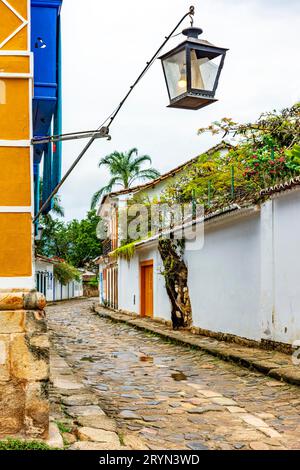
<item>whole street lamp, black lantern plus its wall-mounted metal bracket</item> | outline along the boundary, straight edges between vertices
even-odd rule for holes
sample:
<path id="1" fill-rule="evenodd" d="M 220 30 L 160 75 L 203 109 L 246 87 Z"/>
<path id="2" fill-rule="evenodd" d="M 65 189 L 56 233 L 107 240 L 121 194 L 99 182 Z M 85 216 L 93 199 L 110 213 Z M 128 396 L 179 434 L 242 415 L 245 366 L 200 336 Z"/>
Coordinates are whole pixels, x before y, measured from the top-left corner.
<path id="1" fill-rule="evenodd" d="M 46 144 L 49 142 L 59 142 L 61 140 L 90 137 L 90 140 L 80 152 L 76 160 L 72 163 L 60 183 L 55 186 L 51 194 L 48 196 L 48 199 L 39 209 L 38 213 L 34 217 L 34 222 L 39 219 L 39 216 L 47 208 L 52 198 L 57 194 L 58 190 L 94 143 L 95 139 L 107 138 L 110 140 L 110 126 L 115 121 L 133 90 L 154 64 L 167 42 L 174 36 L 174 33 L 188 16 L 191 18 L 191 27 L 183 30 L 182 32 L 187 39 L 179 44 L 179 46 L 160 57 L 170 98 L 169 107 L 200 109 L 217 101 L 215 99 L 215 93 L 228 49 L 215 47 L 211 43 L 199 39 L 200 34 L 202 34 L 202 29 L 193 27 L 194 14 L 195 7 L 191 6 L 189 11 L 181 18 L 171 33 L 168 36 L 165 36 L 164 42 L 160 45 L 152 58 L 146 62 L 146 66 L 143 68 L 135 82 L 130 86 L 127 94 L 120 101 L 119 105 L 96 130 L 50 137 L 39 137 L 32 140 L 33 145 L 40 145 L 42 142 Z"/>

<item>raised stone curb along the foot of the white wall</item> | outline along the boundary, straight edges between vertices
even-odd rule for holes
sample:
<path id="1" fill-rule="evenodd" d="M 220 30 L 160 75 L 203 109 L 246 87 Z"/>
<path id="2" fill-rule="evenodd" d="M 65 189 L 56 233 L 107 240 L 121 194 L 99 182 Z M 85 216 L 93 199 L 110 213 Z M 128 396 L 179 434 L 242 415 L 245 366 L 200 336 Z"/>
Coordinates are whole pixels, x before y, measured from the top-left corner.
<path id="1" fill-rule="evenodd" d="M 233 362 L 241 367 L 255 369 L 276 380 L 300 385 L 300 366 L 295 366 L 289 356 L 279 352 L 269 352 L 246 346 L 235 347 L 208 337 L 197 337 L 187 331 L 174 331 L 168 326 L 161 328 L 151 320 L 134 318 L 125 313 L 105 309 L 98 305 L 92 307 L 97 315 L 112 321 L 125 323 L 141 331 L 154 333 L 177 344 L 196 348 L 220 359 Z"/>

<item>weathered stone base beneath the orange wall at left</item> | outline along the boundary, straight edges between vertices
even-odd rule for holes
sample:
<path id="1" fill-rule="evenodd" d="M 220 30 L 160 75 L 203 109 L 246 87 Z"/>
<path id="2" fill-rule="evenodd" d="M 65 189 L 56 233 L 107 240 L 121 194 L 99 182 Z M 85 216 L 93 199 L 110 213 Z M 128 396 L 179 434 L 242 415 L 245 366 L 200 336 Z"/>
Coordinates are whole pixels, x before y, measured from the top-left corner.
<path id="1" fill-rule="evenodd" d="M 0 292 L 0 438 L 48 438 L 49 341 L 45 299 Z"/>

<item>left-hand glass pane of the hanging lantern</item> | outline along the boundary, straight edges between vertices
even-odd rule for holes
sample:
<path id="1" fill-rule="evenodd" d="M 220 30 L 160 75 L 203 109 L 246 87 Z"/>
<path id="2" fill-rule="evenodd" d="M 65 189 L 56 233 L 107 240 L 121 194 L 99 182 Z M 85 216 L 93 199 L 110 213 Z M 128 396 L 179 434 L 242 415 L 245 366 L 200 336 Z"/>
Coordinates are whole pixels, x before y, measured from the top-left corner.
<path id="1" fill-rule="evenodd" d="M 163 61 L 166 80 L 170 93 L 170 98 L 186 93 L 187 76 L 186 76 L 186 53 L 185 50 L 168 57 Z"/>

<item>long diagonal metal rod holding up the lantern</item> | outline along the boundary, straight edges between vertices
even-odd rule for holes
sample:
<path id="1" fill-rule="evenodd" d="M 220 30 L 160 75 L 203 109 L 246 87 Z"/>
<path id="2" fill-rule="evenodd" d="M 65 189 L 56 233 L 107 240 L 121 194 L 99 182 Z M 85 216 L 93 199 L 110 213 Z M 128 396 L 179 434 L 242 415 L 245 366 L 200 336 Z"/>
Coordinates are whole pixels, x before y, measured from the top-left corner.
<path id="1" fill-rule="evenodd" d="M 73 164 L 71 165 L 71 167 L 68 169 L 68 171 L 66 172 L 66 174 L 63 176 L 63 178 L 61 179 L 60 183 L 53 189 L 52 193 L 50 194 L 50 196 L 48 197 L 48 199 L 44 202 L 44 204 L 42 205 L 42 207 L 40 208 L 40 210 L 38 211 L 37 215 L 35 216 L 35 218 L 33 219 L 33 222 L 35 223 L 39 216 L 42 214 L 42 212 L 46 209 L 46 207 L 48 206 L 49 202 L 51 201 L 51 199 L 57 194 L 57 192 L 59 191 L 59 189 L 62 187 L 62 185 L 64 184 L 64 182 L 66 181 L 66 179 L 69 177 L 69 175 L 72 173 L 72 171 L 74 170 L 74 168 L 77 166 L 77 164 L 80 162 L 80 160 L 82 159 L 82 157 L 86 154 L 86 152 L 88 151 L 88 149 L 91 147 L 91 145 L 93 144 L 94 140 L 97 138 L 97 133 L 103 128 L 103 126 L 107 123 L 108 121 L 108 125 L 106 126 L 106 128 L 104 128 L 106 131 L 107 131 L 107 134 L 109 132 L 109 128 L 111 126 L 111 124 L 114 122 L 114 120 L 116 119 L 117 115 L 119 114 L 120 110 L 122 109 L 122 107 L 124 106 L 125 102 L 127 101 L 127 99 L 129 98 L 129 96 L 131 95 L 131 93 L 133 92 L 134 88 L 136 87 L 136 85 L 139 83 L 139 81 L 143 78 L 143 76 L 148 72 L 149 68 L 151 67 L 151 65 L 154 63 L 154 61 L 156 60 L 157 56 L 159 55 L 159 53 L 161 52 L 161 50 L 165 47 L 165 45 L 167 44 L 167 42 L 171 39 L 171 37 L 173 36 L 173 34 L 175 33 L 175 31 L 179 28 L 179 26 L 181 25 L 181 23 L 183 23 L 183 21 L 188 17 L 190 16 L 191 18 L 194 16 L 195 14 L 195 7 L 194 6 L 191 6 L 188 13 L 186 13 L 182 18 L 181 20 L 177 23 L 177 25 L 175 26 L 175 28 L 172 29 L 171 33 L 165 37 L 165 40 L 164 42 L 162 43 L 162 45 L 157 49 L 157 51 L 155 52 L 155 54 L 152 56 L 152 58 L 150 59 L 149 62 L 147 62 L 146 64 L 146 67 L 144 67 L 143 71 L 140 73 L 140 75 L 138 76 L 138 78 L 136 79 L 136 81 L 134 82 L 134 84 L 130 87 L 128 93 L 125 95 L 125 97 L 123 98 L 123 100 L 120 102 L 120 104 L 118 105 L 118 107 L 108 116 L 107 119 L 105 119 L 105 121 L 103 122 L 103 124 L 101 124 L 98 129 L 93 133 L 91 139 L 88 141 L 88 143 L 86 144 L 86 146 L 83 148 L 83 150 L 80 152 L 80 154 L 78 155 L 78 157 L 76 158 L 76 160 L 73 162 Z"/>

